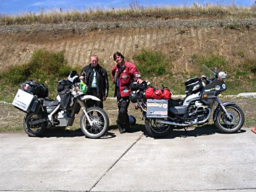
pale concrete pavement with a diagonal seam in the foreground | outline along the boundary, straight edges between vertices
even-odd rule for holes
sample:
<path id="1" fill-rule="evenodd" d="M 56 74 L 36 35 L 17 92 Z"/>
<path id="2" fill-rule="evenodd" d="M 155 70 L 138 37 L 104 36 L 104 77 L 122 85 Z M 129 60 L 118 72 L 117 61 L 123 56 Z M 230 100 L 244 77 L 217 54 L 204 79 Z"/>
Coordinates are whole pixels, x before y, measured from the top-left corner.
<path id="1" fill-rule="evenodd" d="M 1 133 L 0 142 L 0 191 L 256 191 L 251 128 L 220 134 L 206 125 L 162 139 Z"/>

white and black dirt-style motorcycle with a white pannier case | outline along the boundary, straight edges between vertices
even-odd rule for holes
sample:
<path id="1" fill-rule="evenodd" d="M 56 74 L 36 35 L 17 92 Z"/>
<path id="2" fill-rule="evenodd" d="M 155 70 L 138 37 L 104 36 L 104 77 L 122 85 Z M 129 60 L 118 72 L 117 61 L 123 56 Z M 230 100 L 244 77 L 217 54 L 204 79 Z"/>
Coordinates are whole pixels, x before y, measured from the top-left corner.
<path id="1" fill-rule="evenodd" d="M 72 126 L 75 114 L 80 109 L 80 127 L 88 138 L 100 138 L 108 132 L 109 119 L 100 107 L 87 107 L 88 100 L 100 101 L 95 96 L 86 95 L 86 85 L 79 80 L 76 71 L 68 80 L 58 82 L 55 100 L 47 98 L 48 88 L 33 81 L 22 83 L 12 105 L 26 113 L 24 130 L 28 136 L 41 136 L 47 128 Z"/>

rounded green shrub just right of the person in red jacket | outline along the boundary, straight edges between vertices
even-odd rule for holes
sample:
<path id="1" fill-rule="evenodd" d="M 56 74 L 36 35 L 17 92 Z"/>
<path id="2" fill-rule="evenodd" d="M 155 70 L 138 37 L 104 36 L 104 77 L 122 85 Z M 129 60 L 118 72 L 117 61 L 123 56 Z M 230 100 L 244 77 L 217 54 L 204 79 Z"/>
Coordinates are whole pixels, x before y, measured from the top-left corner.
<path id="1" fill-rule="evenodd" d="M 160 51 L 142 50 L 133 56 L 133 59 L 137 61 L 137 68 L 144 77 L 171 73 L 167 70 L 172 66 L 171 58 Z"/>

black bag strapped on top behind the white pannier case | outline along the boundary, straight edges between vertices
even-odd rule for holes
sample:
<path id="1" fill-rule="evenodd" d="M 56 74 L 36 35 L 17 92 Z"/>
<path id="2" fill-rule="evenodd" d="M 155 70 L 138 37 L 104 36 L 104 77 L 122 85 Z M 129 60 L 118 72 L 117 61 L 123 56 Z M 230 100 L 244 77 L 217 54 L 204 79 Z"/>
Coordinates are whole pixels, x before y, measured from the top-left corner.
<path id="1" fill-rule="evenodd" d="M 37 96 L 38 98 L 46 98 L 49 95 L 48 88 L 42 83 L 35 81 L 25 81 L 20 85 L 21 89 Z"/>

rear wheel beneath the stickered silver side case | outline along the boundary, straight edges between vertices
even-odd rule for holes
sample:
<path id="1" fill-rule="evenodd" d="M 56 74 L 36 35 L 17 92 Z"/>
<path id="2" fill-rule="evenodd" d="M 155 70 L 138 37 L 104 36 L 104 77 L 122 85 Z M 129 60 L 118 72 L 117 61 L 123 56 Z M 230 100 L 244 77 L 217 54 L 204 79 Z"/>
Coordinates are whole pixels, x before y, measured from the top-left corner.
<path id="1" fill-rule="evenodd" d="M 156 119 L 146 119 L 145 127 L 148 136 L 156 138 L 165 137 L 169 134 L 169 130 L 172 130 L 171 125 L 156 123 Z"/>

